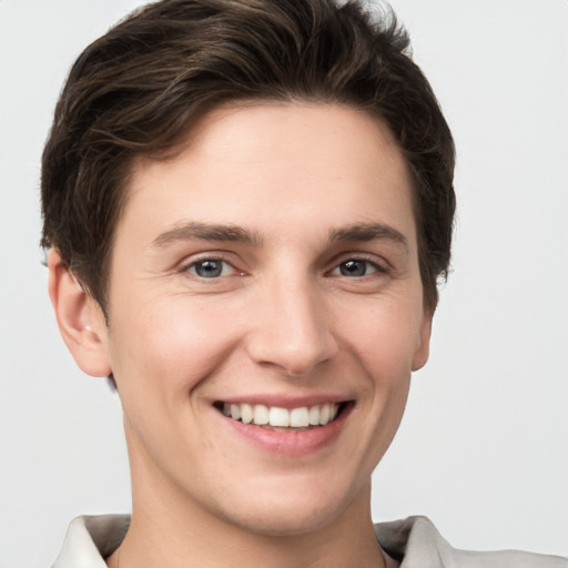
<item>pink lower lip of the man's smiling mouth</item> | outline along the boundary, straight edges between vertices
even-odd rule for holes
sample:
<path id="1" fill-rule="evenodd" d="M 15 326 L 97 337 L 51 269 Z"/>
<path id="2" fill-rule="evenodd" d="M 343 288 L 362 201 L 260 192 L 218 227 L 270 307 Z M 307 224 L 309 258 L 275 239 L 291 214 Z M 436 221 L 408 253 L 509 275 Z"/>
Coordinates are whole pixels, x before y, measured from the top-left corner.
<path id="1" fill-rule="evenodd" d="M 349 404 L 335 420 L 325 426 L 296 432 L 270 430 L 254 424 L 243 424 L 222 414 L 220 416 L 236 434 L 264 452 L 284 456 L 305 456 L 329 446 L 337 439 L 351 408 Z"/>

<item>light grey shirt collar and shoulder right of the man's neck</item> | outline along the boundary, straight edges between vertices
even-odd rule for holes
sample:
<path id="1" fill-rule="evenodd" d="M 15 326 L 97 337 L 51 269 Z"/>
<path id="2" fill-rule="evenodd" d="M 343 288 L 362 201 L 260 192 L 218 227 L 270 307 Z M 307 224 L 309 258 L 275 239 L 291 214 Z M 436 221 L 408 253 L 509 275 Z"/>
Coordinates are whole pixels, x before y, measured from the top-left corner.
<path id="1" fill-rule="evenodd" d="M 477 552 L 453 548 L 426 517 L 381 523 L 375 531 L 400 568 L 568 568 L 568 559 L 519 550 Z"/>

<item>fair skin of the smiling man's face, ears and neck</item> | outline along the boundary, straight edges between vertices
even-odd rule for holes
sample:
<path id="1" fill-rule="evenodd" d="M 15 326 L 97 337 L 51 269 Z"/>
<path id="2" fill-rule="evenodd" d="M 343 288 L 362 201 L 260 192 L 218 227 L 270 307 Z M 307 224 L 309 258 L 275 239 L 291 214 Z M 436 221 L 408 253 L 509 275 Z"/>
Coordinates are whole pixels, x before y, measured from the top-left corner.
<path id="1" fill-rule="evenodd" d="M 410 192 L 362 111 L 222 108 L 172 159 L 134 163 L 108 326 L 52 252 L 62 335 L 83 371 L 113 373 L 124 409 L 132 524 L 109 566 L 383 566 L 371 474 L 432 321 Z M 214 406 L 271 397 L 349 410 L 325 444 L 281 452 Z"/>

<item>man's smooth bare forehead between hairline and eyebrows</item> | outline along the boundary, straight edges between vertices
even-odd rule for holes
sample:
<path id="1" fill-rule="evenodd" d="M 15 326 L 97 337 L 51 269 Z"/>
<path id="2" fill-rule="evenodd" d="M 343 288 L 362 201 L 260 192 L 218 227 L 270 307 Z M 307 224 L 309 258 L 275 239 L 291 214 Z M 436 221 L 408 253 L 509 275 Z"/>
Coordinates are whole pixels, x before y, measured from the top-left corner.
<path id="1" fill-rule="evenodd" d="M 176 217 L 268 233 L 278 223 L 304 233 L 381 221 L 415 237 L 410 175 L 394 136 L 368 113 L 333 104 L 221 108 L 170 158 L 138 158 L 116 237 L 136 225 L 163 231 Z"/>

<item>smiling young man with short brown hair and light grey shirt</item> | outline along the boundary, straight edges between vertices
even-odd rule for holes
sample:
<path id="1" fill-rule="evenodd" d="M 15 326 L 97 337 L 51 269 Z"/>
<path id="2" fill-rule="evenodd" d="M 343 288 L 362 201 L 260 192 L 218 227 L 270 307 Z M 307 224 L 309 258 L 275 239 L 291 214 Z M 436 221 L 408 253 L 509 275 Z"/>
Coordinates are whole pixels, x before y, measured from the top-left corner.
<path id="1" fill-rule="evenodd" d="M 43 245 L 65 343 L 121 397 L 133 510 L 77 520 L 57 567 L 566 566 L 371 520 L 455 206 L 407 47 L 355 3 L 166 0 L 79 58 Z"/>

